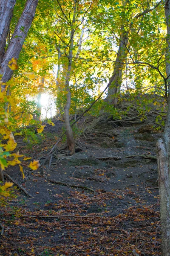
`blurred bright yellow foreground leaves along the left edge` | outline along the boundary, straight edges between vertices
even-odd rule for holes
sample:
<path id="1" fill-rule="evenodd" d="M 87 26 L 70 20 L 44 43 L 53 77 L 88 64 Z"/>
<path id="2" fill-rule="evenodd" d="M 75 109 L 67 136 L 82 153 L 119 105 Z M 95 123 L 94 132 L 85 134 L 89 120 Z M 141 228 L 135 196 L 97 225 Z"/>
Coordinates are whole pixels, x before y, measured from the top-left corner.
<path id="1" fill-rule="evenodd" d="M 16 70 L 18 68 L 17 66 L 17 60 L 12 58 L 11 61 L 8 63 L 8 67 L 11 68 L 11 70 Z M 26 73 L 28 78 L 33 79 L 34 76 L 32 73 Z M 2 82 L 0 83 L 2 84 Z M 11 82 L 12 84 L 12 82 Z M 19 160 L 19 157 L 24 157 L 24 155 L 20 155 L 19 152 L 12 153 L 17 147 L 17 143 L 15 142 L 13 131 L 14 131 L 14 123 L 13 119 L 11 118 L 9 113 L 6 113 L 5 111 L 5 104 L 9 102 L 11 105 L 13 105 L 14 101 L 11 96 L 5 95 L 5 90 L 1 90 L 0 92 L 0 168 L 1 170 L 5 170 L 8 166 L 20 166 L 20 172 L 23 175 L 23 179 L 25 177 L 23 172 L 23 166 L 21 161 Z M 41 125 L 40 132 L 43 131 L 45 125 Z M 15 133 L 15 135 L 22 135 L 21 133 Z M 3 143 L 2 143 L 3 142 Z M 8 158 L 10 159 L 8 160 Z M 23 160 L 28 160 L 29 157 L 24 157 Z M 32 170 L 38 169 L 40 166 L 39 161 L 34 160 L 31 162 L 28 167 Z M 5 191 L 7 188 L 11 187 L 13 183 L 6 182 L 3 186 L 0 186 L 0 192 Z"/>

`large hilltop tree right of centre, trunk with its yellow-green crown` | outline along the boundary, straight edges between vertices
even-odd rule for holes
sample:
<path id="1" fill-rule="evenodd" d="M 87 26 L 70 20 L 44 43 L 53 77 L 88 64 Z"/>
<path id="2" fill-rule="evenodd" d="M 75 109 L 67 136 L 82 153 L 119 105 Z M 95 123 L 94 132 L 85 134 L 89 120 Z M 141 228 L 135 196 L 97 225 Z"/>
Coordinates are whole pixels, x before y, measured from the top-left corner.
<path id="1" fill-rule="evenodd" d="M 102 1 L 101 1 L 102 3 Z M 108 7 L 108 3 L 114 7 Z M 117 107 L 118 96 L 122 85 L 123 71 L 126 68 L 126 58 L 130 54 L 132 58 L 131 49 L 133 49 L 132 40 L 134 33 L 140 32 L 141 24 L 144 22 L 144 17 L 155 10 L 161 1 L 157 3 L 148 3 L 148 1 L 129 1 L 122 0 L 121 2 L 114 2 L 113 0 L 104 1 L 103 6 L 108 9 L 108 14 L 105 15 L 104 20 L 96 17 L 96 23 L 101 23 L 102 29 L 107 29 L 109 34 L 113 36 L 115 47 L 118 48 L 115 60 L 113 61 L 113 73 L 109 79 L 108 102 Z M 105 12 L 104 12 L 105 13 Z M 119 24 L 119 25 L 118 25 Z M 99 25 L 96 25 L 99 26 Z"/>

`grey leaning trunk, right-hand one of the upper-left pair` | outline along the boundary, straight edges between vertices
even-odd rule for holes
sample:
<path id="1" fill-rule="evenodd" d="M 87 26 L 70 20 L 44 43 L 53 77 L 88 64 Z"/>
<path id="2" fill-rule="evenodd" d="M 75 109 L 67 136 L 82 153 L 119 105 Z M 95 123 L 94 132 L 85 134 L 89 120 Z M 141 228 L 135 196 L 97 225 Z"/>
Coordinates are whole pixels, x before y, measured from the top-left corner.
<path id="1" fill-rule="evenodd" d="M 0 74 L 3 75 L 1 79 L 3 83 L 6 83 L 12 77 L 13 70 L 8 67 L 8 62 L 12 58 L 18 59 L 23 47 L 23 43 L 28 34 L 28 30 L 30 29 L 34 19 L 37 4 L 38 0 L 27 0 L 23 13 L 17 23 L 17 26 L 14 29 L 14 34 L 12 35 L 8 49 L 6 50 L 1 62 Z"/>

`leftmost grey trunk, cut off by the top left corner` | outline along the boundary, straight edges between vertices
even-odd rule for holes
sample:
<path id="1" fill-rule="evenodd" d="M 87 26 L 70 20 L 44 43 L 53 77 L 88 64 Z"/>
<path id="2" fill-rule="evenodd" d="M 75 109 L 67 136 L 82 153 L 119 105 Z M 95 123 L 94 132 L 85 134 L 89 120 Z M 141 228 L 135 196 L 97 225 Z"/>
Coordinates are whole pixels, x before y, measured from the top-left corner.
<path id="1" fill-rule="evenodd" d="M 0 63 L 5 54 L 6 38 L 16 0 L 0 0 Z"/>

